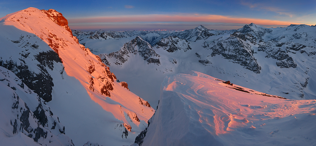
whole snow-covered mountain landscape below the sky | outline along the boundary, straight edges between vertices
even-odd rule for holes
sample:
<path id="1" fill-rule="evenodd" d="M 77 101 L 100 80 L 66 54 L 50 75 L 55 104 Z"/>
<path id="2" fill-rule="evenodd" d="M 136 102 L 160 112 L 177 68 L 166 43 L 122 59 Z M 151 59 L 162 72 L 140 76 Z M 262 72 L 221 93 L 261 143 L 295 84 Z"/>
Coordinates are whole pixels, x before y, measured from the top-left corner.
<path id="1" fill-rule="evenodd" d="M 28 8 L 0 34 L 1 146 L 316 144 L 315 26 L 80 31 Z"/>

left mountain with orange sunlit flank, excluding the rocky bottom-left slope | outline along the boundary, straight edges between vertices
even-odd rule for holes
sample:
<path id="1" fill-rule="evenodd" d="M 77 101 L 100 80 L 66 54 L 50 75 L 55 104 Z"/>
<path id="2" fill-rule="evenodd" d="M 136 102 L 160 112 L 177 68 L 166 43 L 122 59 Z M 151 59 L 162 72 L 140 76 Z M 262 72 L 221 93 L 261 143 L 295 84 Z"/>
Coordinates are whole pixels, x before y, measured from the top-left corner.
<path id="1" fill-rule="evenodd" d="M 109 142 L 113 145 L 132 143 L 155 110 L 130 92 L 126 82 L 119 82 L 68 28 L 67 20 L 53 9 L 28 8 L 3 17 L 0 31 L 5 36 L 0 41 L 11 49 L 0 50 L 0 66 L 48 101 L 76 145 L 106 144 L 107 138 L 115 139 Z M 94 121 L 98 117 L 103 118 Z M 85 136 L 84 131 L 90 134 Z"/>

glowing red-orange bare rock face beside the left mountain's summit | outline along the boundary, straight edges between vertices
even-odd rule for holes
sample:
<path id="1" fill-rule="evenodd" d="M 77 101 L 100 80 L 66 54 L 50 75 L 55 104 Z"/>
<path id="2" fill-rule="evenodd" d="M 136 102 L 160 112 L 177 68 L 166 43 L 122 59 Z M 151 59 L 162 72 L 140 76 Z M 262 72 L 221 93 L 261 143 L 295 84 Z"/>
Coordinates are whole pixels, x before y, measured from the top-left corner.
<path id="1" fill-rule="evenodd" d="M 47 16 L 49 18 L 52 19 L 52 21 L 54 21 L 56 24 L 58 24 L 59 26 L 62 26 L 64 27 L 67 31 L 69 31 L 71 34 L 71 30 L 68 26 L 68 21 L 67 19 L 63 16 L 63 14 L 57 12 L 56 10 L 54 9 L 49 9 L 49 10 L 44 10 L 42 9 L 41 11 L 43 11 L 44 13 L 47 14 Z"/>

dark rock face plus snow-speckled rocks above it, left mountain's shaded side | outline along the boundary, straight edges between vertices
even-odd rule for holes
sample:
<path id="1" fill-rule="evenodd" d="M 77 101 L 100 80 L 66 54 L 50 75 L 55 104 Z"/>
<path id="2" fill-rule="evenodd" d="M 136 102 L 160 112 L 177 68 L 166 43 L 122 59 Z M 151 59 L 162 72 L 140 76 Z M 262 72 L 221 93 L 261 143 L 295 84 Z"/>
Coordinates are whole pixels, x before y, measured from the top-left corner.
<path id="1" fill-rule="evenodd" d="M 54 83 L 52 82 L 52 77 L 48 73 L 48 70 L 54 69 L 55 65 L 61 65 L 62 61 L 58 57 L 58 54 L 52 50 L 47 50 L 40 52 L 41 50 L 46 50 L 46 46 L 42 47 L 38 40 L 34 36 L 21 35 L 19 40 L 11 40 L 14 42 L 12 45 L 15 47 L 27 48 L 25 50 L 19 51 L 20 53 L 16 55 L 19 56 L 19 61 L 14 58 L 7 58 L 3 53 L 0 55 L 0 66 L 11 70 L 18 76 L 22 82 L 24 82 L 30 89 L 37 93 L 46 102 L 52 100 L 52 87 Z M 15 50 L 15 48 L 11 48 Z M 29 67 L 27 62 L 33 62 L 37 65 L 36 68 Z"/>

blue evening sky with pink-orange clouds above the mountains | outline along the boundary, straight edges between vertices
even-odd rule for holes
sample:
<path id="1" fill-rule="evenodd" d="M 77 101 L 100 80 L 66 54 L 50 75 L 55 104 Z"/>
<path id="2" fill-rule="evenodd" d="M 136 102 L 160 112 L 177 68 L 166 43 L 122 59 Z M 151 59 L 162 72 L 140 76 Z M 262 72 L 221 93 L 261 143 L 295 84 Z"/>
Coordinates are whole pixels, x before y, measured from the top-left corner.
<path id="1" fill-rule="evenodd" d="M 77 30 L 238 29 L 316 24 L 316 0 L 0 0 L 0 17 L 55 9 Z"/>

